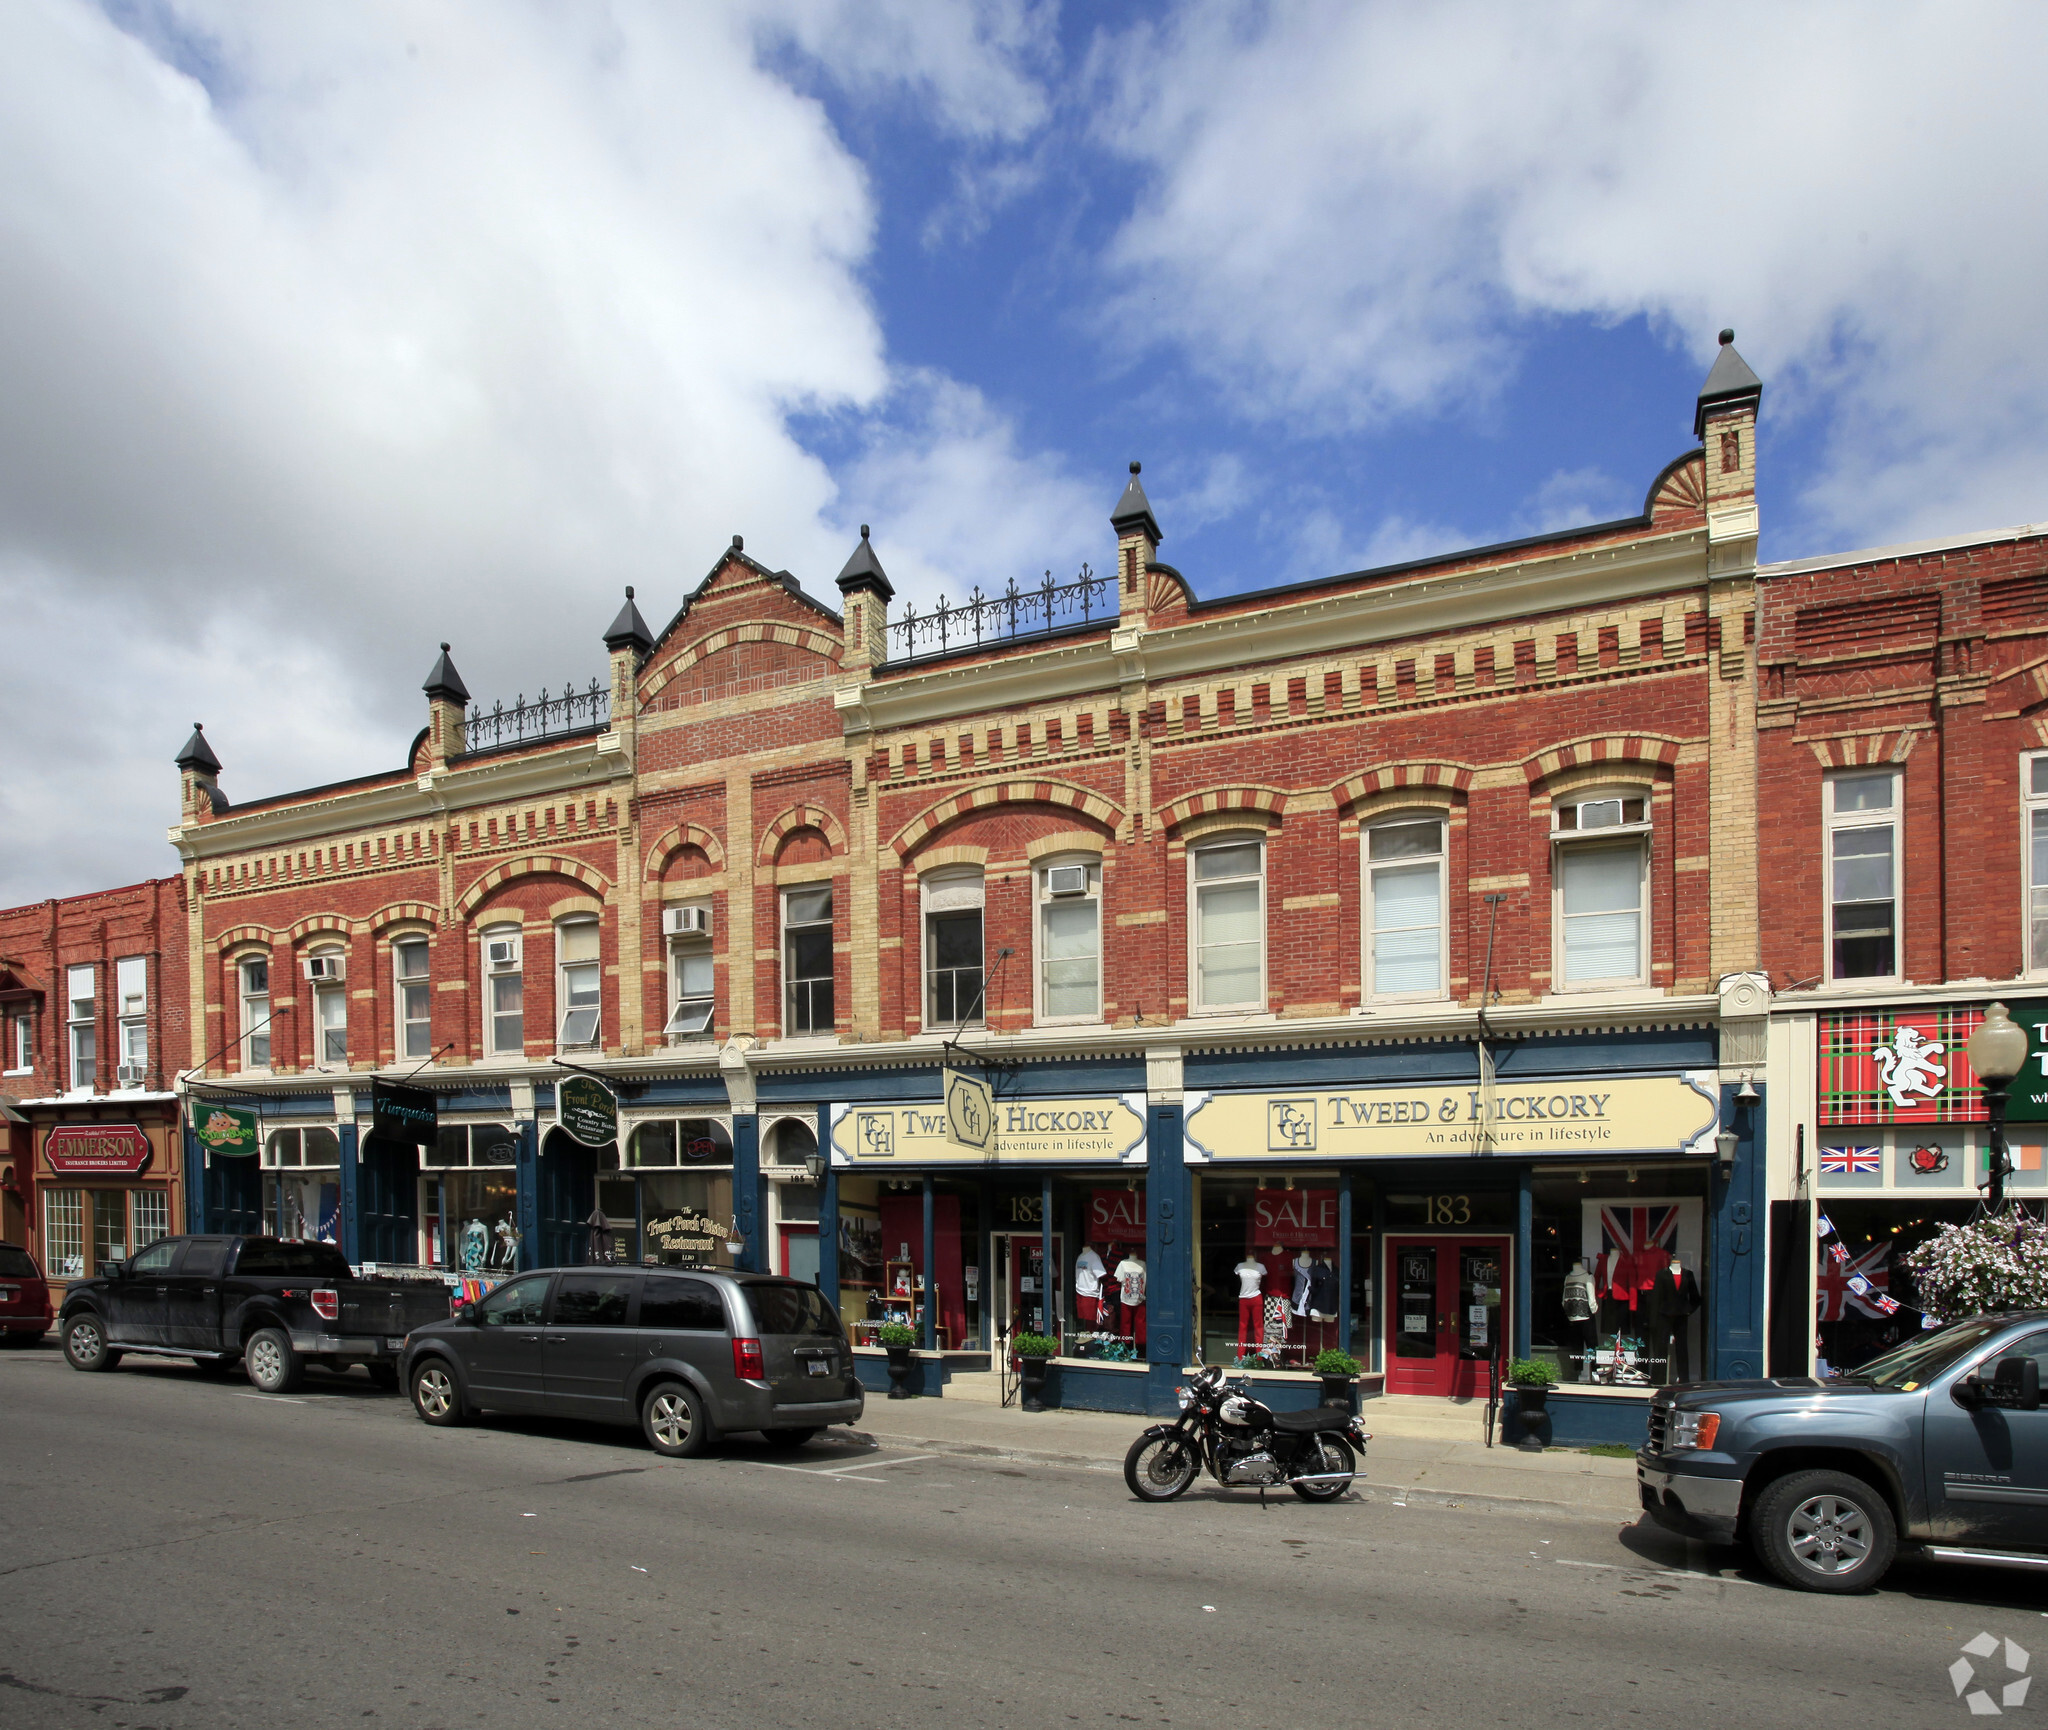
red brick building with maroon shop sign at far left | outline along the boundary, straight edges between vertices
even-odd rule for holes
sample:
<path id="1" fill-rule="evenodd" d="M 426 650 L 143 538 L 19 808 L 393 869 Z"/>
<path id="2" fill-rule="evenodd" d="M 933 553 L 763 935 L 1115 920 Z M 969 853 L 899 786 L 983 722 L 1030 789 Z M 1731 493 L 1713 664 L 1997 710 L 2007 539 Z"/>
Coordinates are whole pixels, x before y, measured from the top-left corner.
<path id="1" fill-rule="evenodd" d="M 178 878 L 0 911 L 0 1239 L 51 1280 L 184 1228 Z"/>

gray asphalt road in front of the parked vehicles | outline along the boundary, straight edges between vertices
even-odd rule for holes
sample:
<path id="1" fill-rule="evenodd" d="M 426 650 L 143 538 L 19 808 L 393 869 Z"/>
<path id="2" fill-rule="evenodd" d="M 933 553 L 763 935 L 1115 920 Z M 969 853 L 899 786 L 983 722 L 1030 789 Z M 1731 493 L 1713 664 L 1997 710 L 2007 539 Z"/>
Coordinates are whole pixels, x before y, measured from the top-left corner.
<path id="1" fill-rule="evenodd" d="M 360 1376 L 285 1400 L 0 1353 L 6 1730 L 1933 1726 L 1970 1718 L 1978 1632 L 2048 1667 L 2048 1591 L 1825 1599 L 1597 1517 L 1141 1507 L 1112 1472 L 823 1439 L 664 1462 L 434 1431 Z"/>

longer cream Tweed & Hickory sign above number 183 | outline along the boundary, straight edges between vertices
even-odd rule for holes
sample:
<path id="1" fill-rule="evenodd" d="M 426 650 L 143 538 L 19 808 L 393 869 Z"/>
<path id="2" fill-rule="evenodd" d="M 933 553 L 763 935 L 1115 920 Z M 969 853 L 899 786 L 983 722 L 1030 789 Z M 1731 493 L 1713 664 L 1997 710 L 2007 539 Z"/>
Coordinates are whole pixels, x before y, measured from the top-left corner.
<path id="1" fill-rule="evenodd" d="M 1190 1093 L 1186 1153 L 1208 1159 L 1438 1159 L 1714 1151 L 1720 1083 L 1681 1075 Z"/>

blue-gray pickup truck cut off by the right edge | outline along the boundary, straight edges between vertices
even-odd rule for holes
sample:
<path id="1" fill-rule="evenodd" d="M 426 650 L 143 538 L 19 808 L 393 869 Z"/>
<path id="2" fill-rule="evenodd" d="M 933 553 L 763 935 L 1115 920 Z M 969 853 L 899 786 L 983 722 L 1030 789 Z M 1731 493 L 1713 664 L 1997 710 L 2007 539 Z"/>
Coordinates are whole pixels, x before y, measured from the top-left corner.
<path id="1" fill-rule="evenodd" d="M 1901 1546 L 2048 1568 L 2048 1310 L 1974 1316 L 1825 1382 L 1686 1382 L 1636 1454 L 1659 1525 L 1747 1540 L 1786 1585 L 1874 1587 Z"/>

